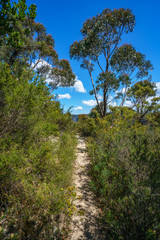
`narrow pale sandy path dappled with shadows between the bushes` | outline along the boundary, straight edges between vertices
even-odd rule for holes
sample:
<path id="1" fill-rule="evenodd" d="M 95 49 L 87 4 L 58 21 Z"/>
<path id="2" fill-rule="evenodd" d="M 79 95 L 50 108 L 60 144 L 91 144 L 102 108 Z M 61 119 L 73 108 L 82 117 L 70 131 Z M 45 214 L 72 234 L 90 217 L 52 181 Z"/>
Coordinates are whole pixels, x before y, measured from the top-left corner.
<path id="1" fill-rule="evenodd" d="M 76 155 L 73 179 L 77 196 L 81 196 L 81 198 L 75 200 L 74 204 L 78 211 L 84 212 L 84 215 L 73 215 L 71 222 L 72 233 L 69 239 L 104 239 L 97 223 L 99 209 L 96 206 L 95 196 L 89 188 L 89 182 L 91 181 L 88 174 L 90 159 L 86 152 L 84 139 L 79 136 Z"/>

